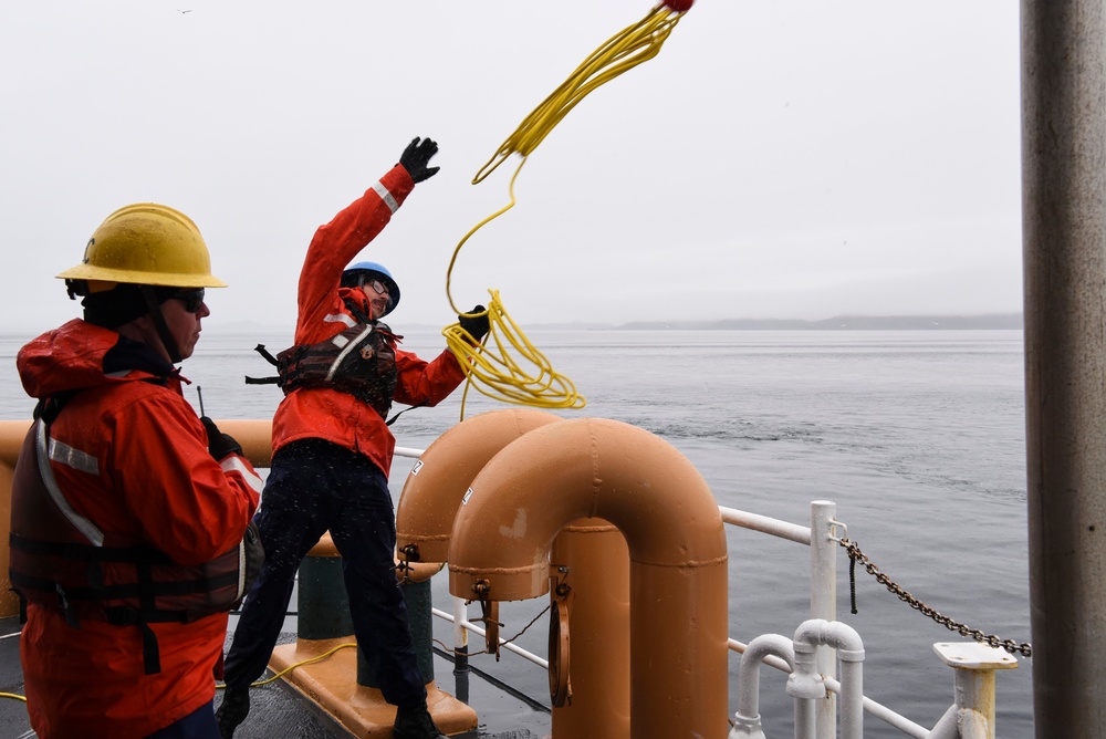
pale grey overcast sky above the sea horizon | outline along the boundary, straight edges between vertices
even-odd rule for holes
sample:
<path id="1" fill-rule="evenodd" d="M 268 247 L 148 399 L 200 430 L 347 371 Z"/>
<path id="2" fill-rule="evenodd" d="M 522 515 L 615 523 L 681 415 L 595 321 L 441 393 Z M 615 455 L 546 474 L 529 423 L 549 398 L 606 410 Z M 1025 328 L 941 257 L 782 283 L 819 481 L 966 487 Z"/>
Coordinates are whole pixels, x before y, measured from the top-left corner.
<path id="1" fill-rule="evenodd" d="M 0 10 L 0 329 L 77 315 L 58 272 L 116 208 L 202 231 L 205 323 L 291 325 L 315 228 L 440 145 L 362 252 L 445 325 L 449 258 L 509 201 L 500 144 L 644 0 L 43 0 Z M 188 10 L 189 12 L 180 12 Z M 560 321 L 1021 310 L 1018 4 L 697 0 L 660 54 L 532 154 L 518 205 L 461 249 L 461 306 L 497 289 Z"/>

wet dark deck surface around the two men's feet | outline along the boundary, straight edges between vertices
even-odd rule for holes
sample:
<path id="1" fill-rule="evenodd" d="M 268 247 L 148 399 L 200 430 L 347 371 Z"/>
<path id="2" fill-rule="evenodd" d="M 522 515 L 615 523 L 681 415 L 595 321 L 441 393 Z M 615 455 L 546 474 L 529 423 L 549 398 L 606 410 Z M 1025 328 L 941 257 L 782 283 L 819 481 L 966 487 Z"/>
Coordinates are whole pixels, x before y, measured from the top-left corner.
<path id="1" fill-rule="evenodd" d="M 23 672 L 19 662 L 19 618 L 0 618 L 0 693 L 24 695 Z M 282 643 L 295 638 L 283 634 Z M 453 735 L 459 739 L 543 739 L 549 735 L 550 716 L 524 698 L 513 696 L 471 673 L 467 679 L 456 677 L 452 663 L 435 655 L 438 686 L 458 698 L 468 698 L 479 714 L 476 731 Z M 216 693 L 216 707 L 222 693 Z M 236 739 L 334 739 L 352 735 L 327 717 L 309 707 L 280 680 L 253 688 L 250 694 L 250 716 L 234 732 Z M 14 698 L 0 698 L 0 739 L 34 737 L 27 716 L 27 704 Z"/>

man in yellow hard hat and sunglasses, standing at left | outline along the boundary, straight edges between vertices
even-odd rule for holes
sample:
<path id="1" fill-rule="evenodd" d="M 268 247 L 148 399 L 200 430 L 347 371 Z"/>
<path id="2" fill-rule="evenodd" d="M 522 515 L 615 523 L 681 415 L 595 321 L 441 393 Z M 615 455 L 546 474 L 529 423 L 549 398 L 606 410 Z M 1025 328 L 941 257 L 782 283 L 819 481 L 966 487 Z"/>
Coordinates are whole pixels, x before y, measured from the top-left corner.
<path id="1" fill-rule="evenodd" d="M 17 357 L 34 424 L 15 467 L 11 581 L 31 727 L 53 737 L 218 737 L 227 613 L 261 480 L 199 418 L 174 364 L 210 314 L 184 214 L 122 208 L 58 275 L 84 319 Z M 260 564 L 255 563 L 257 566 Z M 163 733 L 165 732 L 165 733 Z"/>

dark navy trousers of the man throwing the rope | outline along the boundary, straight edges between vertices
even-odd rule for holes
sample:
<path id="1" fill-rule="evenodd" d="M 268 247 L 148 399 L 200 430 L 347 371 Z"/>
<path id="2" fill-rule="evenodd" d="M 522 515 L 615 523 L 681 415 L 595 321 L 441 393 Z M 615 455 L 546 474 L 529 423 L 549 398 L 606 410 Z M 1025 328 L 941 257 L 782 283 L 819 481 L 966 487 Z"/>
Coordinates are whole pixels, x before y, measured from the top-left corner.
<path id="1" fill-rule="evenodd" d="M 336 444 L 293 441 L 273 456 L 254 521 L 265 563 L 242 604 L 226 660 L 227 688 L 244 689 L 264 673 L 300 562 L 328 530 L 342 554 L 357 645 L 384 699 L 395 706 L 424 701 L 426 685 L 396 580 L 396 518 L 384 472 Z"/>

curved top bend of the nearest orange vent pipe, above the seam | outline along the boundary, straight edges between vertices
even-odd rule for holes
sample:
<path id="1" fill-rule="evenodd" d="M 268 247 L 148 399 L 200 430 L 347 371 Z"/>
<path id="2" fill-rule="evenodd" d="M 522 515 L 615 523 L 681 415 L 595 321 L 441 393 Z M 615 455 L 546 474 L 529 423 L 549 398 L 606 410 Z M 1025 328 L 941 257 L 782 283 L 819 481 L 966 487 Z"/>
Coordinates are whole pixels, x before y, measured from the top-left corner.
<path id="1" fill-rule="evenodd" d="M 599 518 L 626 538 L 633 564 L 693 570 L 726 562 L 718 503 L 675 447 L 615 420 L 538 428 L 504 448 L 471 485 L 453 522 L 450 592 L 495 601 L 549 591 L 549 551 L 570 521 Z"/>

